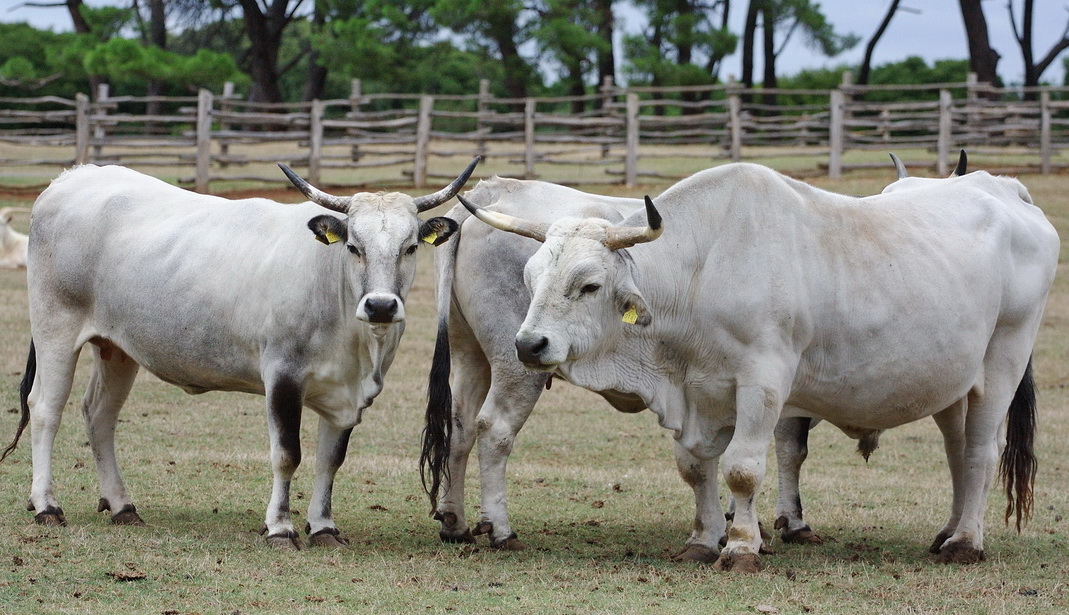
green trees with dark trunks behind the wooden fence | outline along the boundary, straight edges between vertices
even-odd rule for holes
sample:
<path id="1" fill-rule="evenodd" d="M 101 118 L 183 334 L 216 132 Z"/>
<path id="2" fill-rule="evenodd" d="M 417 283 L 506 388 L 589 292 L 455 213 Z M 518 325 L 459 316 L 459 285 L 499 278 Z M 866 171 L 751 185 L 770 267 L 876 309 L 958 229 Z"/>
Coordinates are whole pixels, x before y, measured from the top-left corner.
<path id="1" fill-rule="evenodd" d="M 745 22 L 735 32 L 729 16 L 740 4 Z M 608 78 L 632 86 L 718 83 L 724 59 L 737 51 L 740 82 L 769 89 L 834 88 L 845 70 L 873 84 L 960 82 L 970 71 L 990 80 L 985 75 L 993 71 L 980 66 L 985 59 L 973 52 L 972 31 L 960 61 L 928 65 L 911 58 L 869 66 L 897 1 L 882 20 L 873 19 L 861 65 L 786 77 L 777 74 L 776 59 L 792 35 L 827 57 L 862 37 L 835 31 L 819 2 L 810 0 L 114 0 L 99 7 L 65 0 L 57 5 L 68 11 L 74 32 L 0 25 L 0 96 L 71 98 L 103 82 L 112 95 L 182 95 L 198 88 L 219 91 L 233 81 L 251 101 L 294 102 L 343 98 L 353 79 L 361 80 L 365 93 L 471 94 L 485 79 L 498 97 L 583 95 Z M 620 37 L 625 9 L 646 26 Z M 1024 11 L 1027 16 L 1031 4 Z M 978 2 L 962 2 L 962 12 L 983 19 Z M 985 42 L 986 35 L 985 27 Z M 1052 49 L 1032 62 L 1029 75 L 1038 79 L 1059 52 Z M 1029 49 L 1029 61 L 1033 56 L 1038 57 Z"/>

